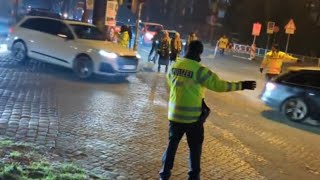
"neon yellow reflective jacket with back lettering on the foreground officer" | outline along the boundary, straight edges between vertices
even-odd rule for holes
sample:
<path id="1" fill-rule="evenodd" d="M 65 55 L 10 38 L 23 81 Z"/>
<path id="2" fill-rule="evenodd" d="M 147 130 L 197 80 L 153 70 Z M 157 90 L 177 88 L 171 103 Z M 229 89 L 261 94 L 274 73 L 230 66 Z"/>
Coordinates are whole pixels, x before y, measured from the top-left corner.
<path id="1" fill-rule="evenodd" d="M 220 80 L 210 69 L 190 59 L 177 59 L 167 75 L 170 87 L 168 119 L 178 123 L 197 122 L 205 89 L 217 92 L 241 90 L 241 82 Z"/>

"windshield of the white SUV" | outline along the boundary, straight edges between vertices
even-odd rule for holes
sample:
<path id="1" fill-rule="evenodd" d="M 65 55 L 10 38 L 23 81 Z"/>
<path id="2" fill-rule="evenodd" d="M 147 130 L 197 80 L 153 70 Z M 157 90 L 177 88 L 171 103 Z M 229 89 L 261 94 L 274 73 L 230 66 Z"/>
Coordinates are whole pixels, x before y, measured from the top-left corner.
<path id="1" fill-rule="evenodd" d="M 105 41 L 106 36 L 94 26 L 72 24 L 75 34 L 79 39 Z"/>

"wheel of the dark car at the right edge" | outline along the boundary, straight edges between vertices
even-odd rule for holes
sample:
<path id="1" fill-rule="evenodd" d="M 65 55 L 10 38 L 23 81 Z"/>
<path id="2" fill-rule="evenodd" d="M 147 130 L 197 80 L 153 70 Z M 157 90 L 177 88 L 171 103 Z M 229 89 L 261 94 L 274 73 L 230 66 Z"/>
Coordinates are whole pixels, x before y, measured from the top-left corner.
<path id="1" fill-rule="evenodd" d="M 282 105 L 282 112 L 291 121 L 302 122 L 309 116 L 309 107 L 302 98 L 290 98 Z"/>

